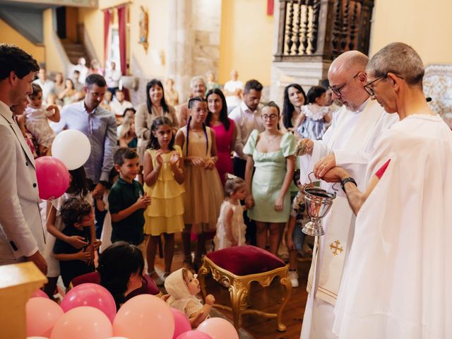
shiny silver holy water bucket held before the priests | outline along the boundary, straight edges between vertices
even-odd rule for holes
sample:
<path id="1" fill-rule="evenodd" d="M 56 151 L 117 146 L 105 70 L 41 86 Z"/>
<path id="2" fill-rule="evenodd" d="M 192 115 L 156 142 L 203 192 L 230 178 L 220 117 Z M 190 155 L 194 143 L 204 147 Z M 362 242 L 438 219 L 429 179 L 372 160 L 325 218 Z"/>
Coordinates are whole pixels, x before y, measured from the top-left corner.
<path id="1" fill-rule="evenodd" d="M 330 210 L 336 194 L 335 192 L 329 193 L 325 189 L 309 186 L 305 186 L 303 191 L 304 206 L 309 215 L 309 218 L 311 218 L 311 221 L 307 222 L 306 225 L 304 225 L 302 231 L 303 233 L 312 235 L 313 237 L 323 235 L 325 234 L 325 231 L 323 231 L 321 219 Z"/>

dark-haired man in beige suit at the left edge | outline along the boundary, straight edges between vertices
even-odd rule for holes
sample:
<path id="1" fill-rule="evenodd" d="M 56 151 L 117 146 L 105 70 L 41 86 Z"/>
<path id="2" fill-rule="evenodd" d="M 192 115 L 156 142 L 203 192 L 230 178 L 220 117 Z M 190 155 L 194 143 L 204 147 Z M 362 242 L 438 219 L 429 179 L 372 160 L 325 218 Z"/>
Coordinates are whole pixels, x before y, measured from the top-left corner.
<path id="1" fill-rule="evenodd" d="M 45 274 L 35 160 L 10 110 L 32 93 L 40 68 L 11 44 L 0 44 L 0 64 L 0 265 L 32 261 Z"/>

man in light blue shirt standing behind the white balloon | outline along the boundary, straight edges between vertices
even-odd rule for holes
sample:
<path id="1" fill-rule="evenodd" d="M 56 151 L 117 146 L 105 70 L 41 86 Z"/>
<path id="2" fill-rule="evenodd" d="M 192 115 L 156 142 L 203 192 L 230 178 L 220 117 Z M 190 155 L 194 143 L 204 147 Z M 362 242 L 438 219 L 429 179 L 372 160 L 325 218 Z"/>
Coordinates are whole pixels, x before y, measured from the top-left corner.
<path id="1" fill-rule="evenodd" d="M 85 80 L 85 100 L 67 105 L 61 109 L 61 119 L 55 131 L 76 129 L 88 137 L 91 154 L 85 162 L 86 177 L 93 180 L 93 198 L 102 198 L 109 172 L 113 168 L 113 154 L 117 148 L 117 124 L 112 112 L 100 107 L 107 91 L 105 78 L 91 74 Z M 96 237 L 102 231 L 103 215 L 96 210 Z"/>

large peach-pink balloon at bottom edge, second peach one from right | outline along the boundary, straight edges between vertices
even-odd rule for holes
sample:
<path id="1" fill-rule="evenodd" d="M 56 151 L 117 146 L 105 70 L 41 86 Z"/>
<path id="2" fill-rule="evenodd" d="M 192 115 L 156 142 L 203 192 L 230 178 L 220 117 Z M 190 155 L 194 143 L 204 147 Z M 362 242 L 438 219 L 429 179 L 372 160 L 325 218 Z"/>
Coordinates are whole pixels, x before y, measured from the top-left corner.
<path id="1" fill-rule="evenodd" d="M 122 305 L 114 318 L 113 333 L 132 339 L 172 339 L 171 308 L 154 295 L 137 295 Z"/>

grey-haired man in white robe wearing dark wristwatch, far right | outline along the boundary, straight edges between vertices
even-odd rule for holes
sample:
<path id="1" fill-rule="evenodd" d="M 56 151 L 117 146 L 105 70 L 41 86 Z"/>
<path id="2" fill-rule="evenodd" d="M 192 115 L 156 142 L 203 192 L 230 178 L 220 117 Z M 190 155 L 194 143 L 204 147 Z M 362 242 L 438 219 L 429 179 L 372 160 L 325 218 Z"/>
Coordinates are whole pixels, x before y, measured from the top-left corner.
<path id="1" fill-rule="evenodd" d="M 333 331 L 341 339 L 452 338 L 452 132 L 429 109 L 422 60 L 408 45 L 377 52 L 367 76 L 369 94 L 400 122 L 377 141 L 366 190 L 340 167 L 323 177 L 341 182 L 357 213 Z"/>

